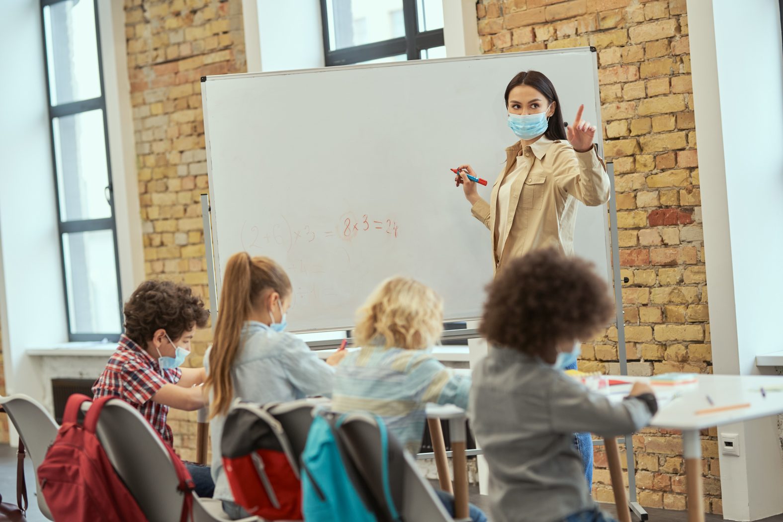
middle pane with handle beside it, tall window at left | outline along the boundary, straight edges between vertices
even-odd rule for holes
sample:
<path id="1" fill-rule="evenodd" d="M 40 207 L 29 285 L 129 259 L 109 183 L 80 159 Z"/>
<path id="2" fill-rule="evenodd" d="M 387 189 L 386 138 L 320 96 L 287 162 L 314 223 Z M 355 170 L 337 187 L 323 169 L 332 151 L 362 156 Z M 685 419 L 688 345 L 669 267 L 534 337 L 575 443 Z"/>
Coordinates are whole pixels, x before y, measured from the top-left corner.
<path id="1" fill-rule="evenodd" d="M 60 219 L 110 218 L 103 110 L 52 120 Z"/>

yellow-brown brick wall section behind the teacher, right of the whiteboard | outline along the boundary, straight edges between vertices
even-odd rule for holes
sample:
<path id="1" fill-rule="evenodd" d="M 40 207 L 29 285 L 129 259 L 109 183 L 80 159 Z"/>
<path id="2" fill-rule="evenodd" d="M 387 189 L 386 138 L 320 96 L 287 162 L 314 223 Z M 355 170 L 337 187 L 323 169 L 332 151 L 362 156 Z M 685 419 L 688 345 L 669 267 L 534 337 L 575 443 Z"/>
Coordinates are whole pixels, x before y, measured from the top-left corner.
<path id="1" fill-rule="evenodd" d="M 604 152 L 615 164 L 630 373 L 712 373 L 685 0 L 479 0 L 483 52 L 593 45 Z M 557 87 L 557 86 L 556 86 Z M 580 369 L 619 373 L 617 329 Z M 685 509 L 680 434 L 633 437 L 643 506 Z M 705 507 L 722 513 L 716 431 L 702 434 Z M 624 458 L 624 457 L 623 457 Z M 604 452 L 594 493 L 612 502 Z"/>

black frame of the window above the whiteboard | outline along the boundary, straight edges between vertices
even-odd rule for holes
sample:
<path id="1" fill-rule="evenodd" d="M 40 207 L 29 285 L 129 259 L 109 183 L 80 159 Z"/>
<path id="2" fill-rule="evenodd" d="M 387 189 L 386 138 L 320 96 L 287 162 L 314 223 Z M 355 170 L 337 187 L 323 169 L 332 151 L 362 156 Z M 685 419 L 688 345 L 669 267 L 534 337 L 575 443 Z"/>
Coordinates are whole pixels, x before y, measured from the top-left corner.
<path id="1" fill-rule="evenodd" d="M 372 0 L 370 0 L 372 1 Z M 389 56 L 406 55 L 407 59 L 420 59 L 421 52 L 444 44 L 443 29 L 419 31 L 419 16 L 417 0 L 402 0 L 402 19 L 405 22 L 405 36 L 391 40 L 373 41 L 365 45 L 354 45 L 343 49 L 329 49 L 329 17 L 327 0 L 321 2 L 321 26 L 323 29 L 323 55 L 325 65 L 352 65 L 366 62 L 370 59 L 388 58 Z"/>

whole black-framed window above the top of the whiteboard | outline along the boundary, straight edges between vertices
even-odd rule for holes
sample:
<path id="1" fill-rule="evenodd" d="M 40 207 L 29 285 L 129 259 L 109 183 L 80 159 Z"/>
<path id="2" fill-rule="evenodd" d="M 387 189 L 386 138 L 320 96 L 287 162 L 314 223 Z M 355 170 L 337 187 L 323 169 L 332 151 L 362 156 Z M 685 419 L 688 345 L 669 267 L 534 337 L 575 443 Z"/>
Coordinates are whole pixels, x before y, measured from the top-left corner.
<path id="1" fill-rule="evenodd" d="M 321 0 L 327 66 L 445 58 L 442 0 Z"/>

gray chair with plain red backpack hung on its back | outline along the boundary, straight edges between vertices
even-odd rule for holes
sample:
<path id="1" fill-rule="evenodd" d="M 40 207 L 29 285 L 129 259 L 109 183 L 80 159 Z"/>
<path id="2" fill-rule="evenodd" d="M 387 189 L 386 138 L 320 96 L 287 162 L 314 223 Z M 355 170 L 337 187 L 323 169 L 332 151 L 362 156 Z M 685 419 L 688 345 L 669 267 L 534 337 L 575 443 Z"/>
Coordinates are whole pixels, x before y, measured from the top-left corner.
<path id="1" fill-rule="evenodd" d="M 98 438 L 114 469 L 139 502 L 150 522 L 179 520 L 182 494 L 179 480 L 163 441 L 141 414 L 121 400 L 108 401 L 98 419 Z M 229 520 L 221 502 L 193 494 L 193 520 Z M 243 522 L 258 520 L 247 517 Z"/>

